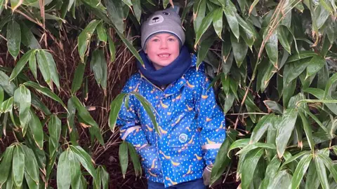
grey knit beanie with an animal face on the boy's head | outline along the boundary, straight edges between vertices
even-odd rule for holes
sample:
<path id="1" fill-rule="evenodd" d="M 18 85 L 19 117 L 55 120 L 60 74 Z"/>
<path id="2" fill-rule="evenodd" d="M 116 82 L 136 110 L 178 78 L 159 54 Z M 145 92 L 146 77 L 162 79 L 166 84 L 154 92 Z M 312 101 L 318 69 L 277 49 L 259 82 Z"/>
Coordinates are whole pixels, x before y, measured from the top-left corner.
<path id="1" fill-rule="evenodd" d="M 154 12 L 142 25 L 142 48 L 153 34 L 167 32 L 177 36 L 180 44 L 185 43 L 185 32 L 181 27 L 180 16 L 172 8 Z"/>

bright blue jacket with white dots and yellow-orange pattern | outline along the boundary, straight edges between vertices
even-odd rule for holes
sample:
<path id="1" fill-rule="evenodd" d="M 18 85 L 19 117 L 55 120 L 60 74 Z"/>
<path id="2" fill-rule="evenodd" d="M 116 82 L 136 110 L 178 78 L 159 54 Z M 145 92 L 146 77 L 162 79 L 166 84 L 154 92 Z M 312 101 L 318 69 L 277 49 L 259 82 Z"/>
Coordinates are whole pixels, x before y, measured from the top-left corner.
<path id="1" fill-rule="evenodd" d="M 165 90 L 138 72 L 122 91 L 138 92 L 156 110 L 161 137 L 133 95 L 128 109 L 121 106 L 117 125 L 121 139 L 136 147 L 147 179 L 165 187 L 202 178 L 205 166 L 214 163 L 226 137 L 224 113 L 216 104 L 213 88 L 207 90 L 210 81 L 204 69 L 196 69 L 196 62 L 192 55 L 187 73 Z"/>

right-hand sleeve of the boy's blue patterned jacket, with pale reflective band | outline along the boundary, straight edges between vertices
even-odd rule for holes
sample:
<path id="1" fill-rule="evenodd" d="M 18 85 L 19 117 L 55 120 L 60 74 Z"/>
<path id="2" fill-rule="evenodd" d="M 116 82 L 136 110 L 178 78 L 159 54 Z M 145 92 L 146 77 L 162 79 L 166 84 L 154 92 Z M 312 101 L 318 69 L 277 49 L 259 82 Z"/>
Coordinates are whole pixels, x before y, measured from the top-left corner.
<path id="1" fill-rule="evenodd" d="M 225 141 L 225 115 L 216 104 L 213 87 L 208 78 L 204 78 L 201 83 L 201 94 L 197 99 L 198 125 L 201 129 L 200 142 L 204 150 L 204 160 L 206 165 L 213 165 L 221 144 Z"/>

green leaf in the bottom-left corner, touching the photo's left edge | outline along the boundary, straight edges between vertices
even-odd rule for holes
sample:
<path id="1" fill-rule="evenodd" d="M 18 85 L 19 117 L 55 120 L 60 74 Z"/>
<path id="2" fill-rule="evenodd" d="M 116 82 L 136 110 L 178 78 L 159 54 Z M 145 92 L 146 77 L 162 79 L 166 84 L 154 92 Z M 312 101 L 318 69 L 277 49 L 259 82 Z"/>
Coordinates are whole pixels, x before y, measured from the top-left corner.
<path id="1" fill-rule="evenodd" d="M 12 158 L 13 158 L 14 146 L 9 146 L 6 148 L 6 151 L 1 155 L 0 163 L 0 187 L 7 181 L 8 174 L 10 173 L 12 167 Z M 9 176 L 11 178 L 11 176 Z"/>

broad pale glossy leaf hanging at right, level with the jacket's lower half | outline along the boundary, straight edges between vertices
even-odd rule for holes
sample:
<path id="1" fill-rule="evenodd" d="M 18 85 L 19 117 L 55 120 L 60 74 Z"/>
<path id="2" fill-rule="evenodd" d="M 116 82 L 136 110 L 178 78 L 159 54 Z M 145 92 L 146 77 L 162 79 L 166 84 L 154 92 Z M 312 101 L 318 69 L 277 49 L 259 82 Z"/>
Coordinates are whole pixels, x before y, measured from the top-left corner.
<path id="1" fill-rule="evenodd" d="M 277 155 L 282 158 L 284 151 L 286 149 L 286 144 L 291 137 L 291 132 L 296 123 L 297 110 L 296 109 L 286 109 L 282 116 L 282 121 L 279 123 L 276 137 L 276 147 Z"/>

